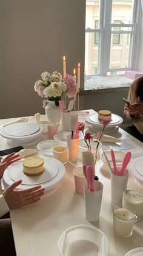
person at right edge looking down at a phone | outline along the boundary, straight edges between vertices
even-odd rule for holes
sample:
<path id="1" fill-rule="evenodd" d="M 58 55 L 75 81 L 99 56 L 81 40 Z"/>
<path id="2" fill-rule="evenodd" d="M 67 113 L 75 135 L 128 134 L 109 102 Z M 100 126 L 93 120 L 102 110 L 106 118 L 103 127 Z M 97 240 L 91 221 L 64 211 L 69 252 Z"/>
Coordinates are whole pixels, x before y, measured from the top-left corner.
<path id="1" fill-rule="evenodd" d="M 125 104 L 124 116 L 133 121 L 133 125 L 125 131 L 143 142 L 143 76 L 130 85 L 127 101 L 130 105 Z"/>

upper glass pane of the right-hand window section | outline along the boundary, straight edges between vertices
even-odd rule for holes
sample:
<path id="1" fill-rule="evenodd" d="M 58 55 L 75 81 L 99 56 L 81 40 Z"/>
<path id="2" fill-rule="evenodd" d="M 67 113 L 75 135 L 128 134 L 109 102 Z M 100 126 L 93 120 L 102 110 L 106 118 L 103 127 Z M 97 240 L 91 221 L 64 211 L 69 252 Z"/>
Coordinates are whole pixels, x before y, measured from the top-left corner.
<path id="1" fill-rule="evenodd" d="M 115 20 L 122 20 L 122 23 L 132 23 L 134 0 L 117 1 L 112 0 L 111 23 Z"/>

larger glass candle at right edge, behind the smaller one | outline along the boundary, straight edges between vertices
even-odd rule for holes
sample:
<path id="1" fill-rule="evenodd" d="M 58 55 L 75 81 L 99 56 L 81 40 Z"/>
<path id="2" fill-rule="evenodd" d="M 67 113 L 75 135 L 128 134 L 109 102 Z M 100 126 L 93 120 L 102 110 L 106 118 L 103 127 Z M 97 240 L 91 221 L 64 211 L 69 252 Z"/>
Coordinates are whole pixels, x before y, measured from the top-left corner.
<path id="1" fill-rule="evenodd" d="M 127 187 L 123 193 L 122 204 L 131 212 L 135 213 L 136 220 L 139 221 L 143 217 L 143 190 L 135 186 Z"/>

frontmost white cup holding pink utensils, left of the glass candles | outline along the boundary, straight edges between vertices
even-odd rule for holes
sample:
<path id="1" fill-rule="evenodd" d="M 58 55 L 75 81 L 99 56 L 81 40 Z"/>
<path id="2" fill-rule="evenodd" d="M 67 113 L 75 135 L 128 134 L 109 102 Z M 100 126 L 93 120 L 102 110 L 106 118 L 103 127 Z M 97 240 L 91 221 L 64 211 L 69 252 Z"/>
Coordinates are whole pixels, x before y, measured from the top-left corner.
<path id="1" fill-rule="evenodd" d="M 88 184 L 84 183 L 85 218 L 90 222 L 99 220 L 103 193 L 103 184 L 98 180 L 94 180 L 94 183 L 95 192 L 88 191 Z"/>

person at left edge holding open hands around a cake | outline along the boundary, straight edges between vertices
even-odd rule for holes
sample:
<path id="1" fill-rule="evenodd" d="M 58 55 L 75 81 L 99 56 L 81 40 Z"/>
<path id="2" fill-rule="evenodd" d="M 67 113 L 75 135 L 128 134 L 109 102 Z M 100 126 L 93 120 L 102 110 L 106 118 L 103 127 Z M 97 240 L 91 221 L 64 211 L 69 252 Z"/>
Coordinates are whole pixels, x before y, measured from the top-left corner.
<path id="1" fill-rule="evenodd" d="M 18 160 L 18 155 L 12 153 L 0 163 L 0 179 L 8 165 Z M 13 241 L 12 226 L 10 218 L 7 218 L 9 210 L 24 207 L 25 205 L 38 202 L 44 194 L 44 188 L 35 186 L 24 190 L 16 190 L 22 180 L 18 180 L 6 188 L 0 196 L 0 254 L 2 256 L 15 256 L 15 244 Z M 5 217 L 7 219 L 5 219 Z M 9 217 L 9 215 L 8 215 Z"/>

